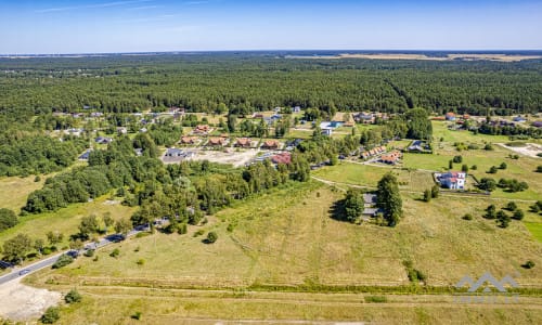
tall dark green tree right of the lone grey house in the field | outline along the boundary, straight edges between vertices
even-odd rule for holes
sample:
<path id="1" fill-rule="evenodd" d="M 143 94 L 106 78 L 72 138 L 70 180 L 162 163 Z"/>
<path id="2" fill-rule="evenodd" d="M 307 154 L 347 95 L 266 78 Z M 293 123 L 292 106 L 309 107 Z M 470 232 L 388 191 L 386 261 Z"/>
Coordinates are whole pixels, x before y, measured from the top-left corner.
<path id="1" fill-rule="evenodd" d="M 399 184 L 392 173 L 385 174 L 378 181 L 377 206 L 384 210 L 384 219 L 389 226 L 395 226 L 403 214 Z"/>

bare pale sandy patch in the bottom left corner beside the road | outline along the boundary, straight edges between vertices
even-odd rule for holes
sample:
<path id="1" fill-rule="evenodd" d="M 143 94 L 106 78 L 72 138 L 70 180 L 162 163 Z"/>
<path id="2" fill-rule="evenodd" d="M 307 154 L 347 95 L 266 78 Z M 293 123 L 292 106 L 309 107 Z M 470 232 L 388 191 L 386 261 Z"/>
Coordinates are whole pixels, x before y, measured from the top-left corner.
<path id="1" fill-rule="evenodd" d="M 17 278 L 0 286 L 0 315 L 12 321 L 36 320 L 61 299 L 60 292 L 28 287 Z"/>

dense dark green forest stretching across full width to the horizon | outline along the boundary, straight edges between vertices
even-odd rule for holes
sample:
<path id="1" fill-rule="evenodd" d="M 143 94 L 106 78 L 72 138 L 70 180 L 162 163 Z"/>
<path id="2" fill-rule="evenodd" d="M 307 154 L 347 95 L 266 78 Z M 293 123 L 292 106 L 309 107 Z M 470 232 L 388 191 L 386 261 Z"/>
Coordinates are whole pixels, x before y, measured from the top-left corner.
<path id="1" fill-rule="evenodd" d="M 301 60 L 271 54 L 0 58 L 0 110 L 542 110 L 541 61 Z"/>

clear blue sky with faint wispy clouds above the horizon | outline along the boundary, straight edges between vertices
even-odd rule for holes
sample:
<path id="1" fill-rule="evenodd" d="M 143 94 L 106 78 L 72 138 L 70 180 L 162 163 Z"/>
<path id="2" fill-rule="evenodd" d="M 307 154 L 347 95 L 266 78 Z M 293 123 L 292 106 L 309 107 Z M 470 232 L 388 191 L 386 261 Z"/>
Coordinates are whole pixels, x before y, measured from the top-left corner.
<path id="1" fill-rule="evenodd" d="M 0 0 L 0 53 L 541 50 L 542 0 Z"/>

